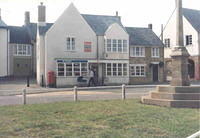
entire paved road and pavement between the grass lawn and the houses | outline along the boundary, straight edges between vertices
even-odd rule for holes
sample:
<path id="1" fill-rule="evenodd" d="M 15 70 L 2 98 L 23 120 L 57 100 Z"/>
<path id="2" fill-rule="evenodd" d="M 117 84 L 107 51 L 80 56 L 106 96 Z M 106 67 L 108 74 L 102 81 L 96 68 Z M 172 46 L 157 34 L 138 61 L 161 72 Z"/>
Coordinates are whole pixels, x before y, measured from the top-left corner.
<path id="1" fill-rule="evenodd" d="M 167 84 L 163 84 L 167 85 Z M 195 82 L 193 85 L 200 85 Z M 135 99 L 148 95 L 155 90 L 157 85 L 128 85 L 126 86 L 126 98 Z M 35 80 L 30 81 L 30 87 L 26 88 L 26 81 L 7 80 L 0 81 L 0 106 L 20 105 L 23 103 L 22 91 L 26 89 L 27 104 L 53 103 L 62 101 L 74 101 L 73 88 L 42 88 L 36 85 Z M 78 88 L 79 101 L 113 100 L 121 99 L 121 86 L 80 87 Z"/>

